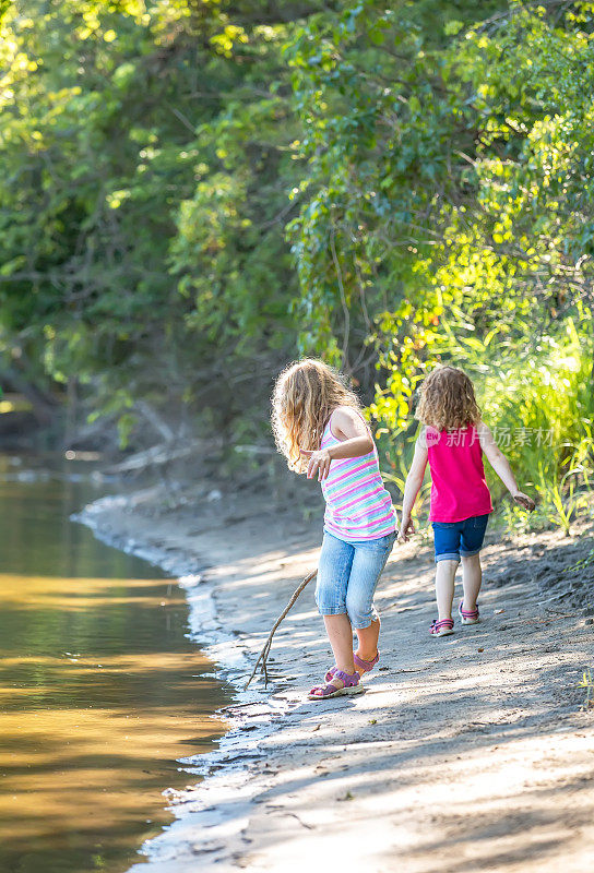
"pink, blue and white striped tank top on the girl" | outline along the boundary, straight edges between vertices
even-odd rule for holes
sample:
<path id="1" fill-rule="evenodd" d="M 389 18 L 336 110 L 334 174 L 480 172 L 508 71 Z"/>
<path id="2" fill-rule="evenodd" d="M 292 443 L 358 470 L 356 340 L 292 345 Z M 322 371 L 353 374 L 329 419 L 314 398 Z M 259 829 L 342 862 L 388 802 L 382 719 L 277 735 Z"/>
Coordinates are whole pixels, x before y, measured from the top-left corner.
<path id="1" fill-rule="evenodd" d="M 368 429 L 369 430 L 369 429 Z M 322 434 L 321 449 L 338 445 L 332 433 L 332 416 Z M 378 450 L 360 457 L 333 461 L 322 479 L 325 500 L 324 530 L 346 542 L 379 539 L 393 534 L 396 511 L 383 487 Z"/>

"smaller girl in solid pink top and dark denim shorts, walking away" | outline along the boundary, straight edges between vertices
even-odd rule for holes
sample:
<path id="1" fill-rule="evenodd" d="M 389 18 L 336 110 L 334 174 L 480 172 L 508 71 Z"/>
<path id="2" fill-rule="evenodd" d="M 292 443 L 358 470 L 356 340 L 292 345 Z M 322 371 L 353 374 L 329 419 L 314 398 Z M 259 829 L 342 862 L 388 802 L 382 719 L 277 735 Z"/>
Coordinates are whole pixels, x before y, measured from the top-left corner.
<path id="1" fill-rule="evenodd" d="M 427 376 L 420 388 L 416 417 L 424 427 L 406 477 L 400 539 L 407 540 L 408 534 L 414 533 L 411 514 L 428 463 L 438 607 L 438 618 L 429 633 L 447 636 L 453 633 L 452 603 L 460 561 L 463 586 L 460 620 L 462 624 L 479 621 L 476 605 L 483 581 L 479 553 L 492 512 L 483 454 L 516 503 L 532 512 L 534 501 L 518 490 L 507 457 L 480 420 L 473 383 L 462 370 L 439 367 Z"/>

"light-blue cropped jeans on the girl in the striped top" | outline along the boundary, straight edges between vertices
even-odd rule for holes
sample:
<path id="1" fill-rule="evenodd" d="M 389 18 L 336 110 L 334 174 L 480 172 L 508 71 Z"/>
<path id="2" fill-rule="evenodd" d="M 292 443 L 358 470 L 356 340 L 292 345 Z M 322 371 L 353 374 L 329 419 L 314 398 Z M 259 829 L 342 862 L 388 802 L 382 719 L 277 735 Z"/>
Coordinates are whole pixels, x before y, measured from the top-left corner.
<path id="1" fill-rule="evenodd" d="M 353 627 L 369 627 L 378 618 L 373 595 L 396 535 L 345 542 L 324 530 L 318 563 L 316 602 L 321 615 L 346 612 Z"/>

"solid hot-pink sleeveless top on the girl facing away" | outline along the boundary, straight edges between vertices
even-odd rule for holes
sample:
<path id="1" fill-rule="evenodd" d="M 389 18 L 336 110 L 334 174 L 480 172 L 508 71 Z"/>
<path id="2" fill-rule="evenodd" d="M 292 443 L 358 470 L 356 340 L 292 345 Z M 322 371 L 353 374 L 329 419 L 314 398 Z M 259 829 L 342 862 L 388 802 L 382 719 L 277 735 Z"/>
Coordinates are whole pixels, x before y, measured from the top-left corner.
<path id="1" fill-rule="evenodd" d="M 476 428 L 426 428 L 425 440 L 431 471 L 429 521 L 463 522 L 492 512 Z"/>

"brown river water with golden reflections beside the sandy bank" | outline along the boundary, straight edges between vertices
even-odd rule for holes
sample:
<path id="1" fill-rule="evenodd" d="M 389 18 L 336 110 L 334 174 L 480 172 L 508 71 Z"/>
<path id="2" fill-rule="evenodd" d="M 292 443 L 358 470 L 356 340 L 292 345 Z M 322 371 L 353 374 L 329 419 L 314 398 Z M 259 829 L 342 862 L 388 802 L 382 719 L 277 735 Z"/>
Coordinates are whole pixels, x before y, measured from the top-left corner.
<path id="1" fill-rule="evenodd" d="M 0 455 L 0 873 L 126 871 L 224 731 L 182 591 L 70 521 L 88 473 Z"/>

